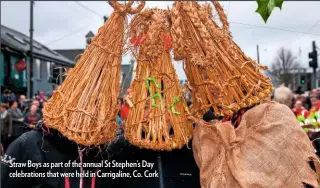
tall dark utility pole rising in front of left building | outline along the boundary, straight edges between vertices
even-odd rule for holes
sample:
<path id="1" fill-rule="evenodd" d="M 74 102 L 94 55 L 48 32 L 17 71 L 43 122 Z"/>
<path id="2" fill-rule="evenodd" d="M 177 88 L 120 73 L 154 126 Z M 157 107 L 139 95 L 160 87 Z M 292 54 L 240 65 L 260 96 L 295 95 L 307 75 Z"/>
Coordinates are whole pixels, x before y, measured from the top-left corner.
<path id="1" fill-rule="evenodd" d="M 33 81 L 32 81 L 32 78 L 33 78 L 33 5 L 34 5 L 34 1 L 31 0 L 30 1 L 30 62 L 29 62 L 29 65 L 27 66 L 28 67 L 28 92 L 27 92 L 27 97 L 28 99 L 31 99 L 32 98 L 32 95 L 33 95 Z"/>

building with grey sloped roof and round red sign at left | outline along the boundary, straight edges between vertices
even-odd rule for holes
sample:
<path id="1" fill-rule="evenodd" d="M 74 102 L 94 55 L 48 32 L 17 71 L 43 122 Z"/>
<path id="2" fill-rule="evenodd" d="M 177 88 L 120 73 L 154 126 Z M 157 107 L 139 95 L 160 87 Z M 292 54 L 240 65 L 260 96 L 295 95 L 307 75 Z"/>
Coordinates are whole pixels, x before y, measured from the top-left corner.
<path id="1" fill-rule="evenodd" d="M 51 92 L 53 72 L 57 67 L 73 67 L 73 61 L 33 41 L 33 63 L 30 64 L 30 40 L 25 34 L 1 25 L 0 53 L 1 91 L 9 89 L 17 95 L 36 94 L 38 91 Z M 29 70 L 30 69 L 30 70 Z M 58 70 L 61 71 L 62 70 Z M 28 73 L 30 90 L 28 92 Z M 61 80 L 57 84 L 59 84 Z"/>

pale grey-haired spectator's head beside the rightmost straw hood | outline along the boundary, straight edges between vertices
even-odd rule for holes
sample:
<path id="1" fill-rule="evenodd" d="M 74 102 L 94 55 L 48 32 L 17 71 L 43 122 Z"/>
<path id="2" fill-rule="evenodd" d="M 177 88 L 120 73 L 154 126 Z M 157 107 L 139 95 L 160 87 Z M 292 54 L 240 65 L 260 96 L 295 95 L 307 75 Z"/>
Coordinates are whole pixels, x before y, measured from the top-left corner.
<path id="1" fill-rule="evenodd" d="M 274 101 L 280 104 L 284 104 L 289 108 L 292 105 L 293 99 L 294 99 L 294 95 L 292 91 L 285 86 L 278 87 L 274 92 Z"/>

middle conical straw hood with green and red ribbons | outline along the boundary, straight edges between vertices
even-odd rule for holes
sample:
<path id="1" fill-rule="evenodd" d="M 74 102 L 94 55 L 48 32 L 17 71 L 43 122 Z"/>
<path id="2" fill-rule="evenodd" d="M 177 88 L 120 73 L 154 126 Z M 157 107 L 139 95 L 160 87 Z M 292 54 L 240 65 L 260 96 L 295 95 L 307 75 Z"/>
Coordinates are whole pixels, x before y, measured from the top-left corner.
<path id="1" fill-rule="evenodd" d="M 125 123 L 125 136 L 140 148 L 182 148 L 192 136 L 187 107 L 170 56 L 169 11 L 150 9 L 137 14 L 131 34 L 142 41 L 133 90 L 133 108 Z M 134 40 L 133 40 L 134 42 Z M 150 87 L 148 88 L 148 86 Z"/>

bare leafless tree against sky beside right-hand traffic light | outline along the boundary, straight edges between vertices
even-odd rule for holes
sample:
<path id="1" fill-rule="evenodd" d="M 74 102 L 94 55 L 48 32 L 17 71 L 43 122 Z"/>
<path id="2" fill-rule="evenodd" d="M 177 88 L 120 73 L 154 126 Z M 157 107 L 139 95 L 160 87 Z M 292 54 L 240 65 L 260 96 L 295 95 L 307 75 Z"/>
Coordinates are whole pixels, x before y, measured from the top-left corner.
<path id="1" fill-rule="evenodd" d="M 299 67 L 300 63 L 292 51 L 282 47 L 278 50 L 277 56 L 271 65 L 271 74 L 278 83 L 288 86 L 294 83 L 295 76 L 292 71 Z"/>

